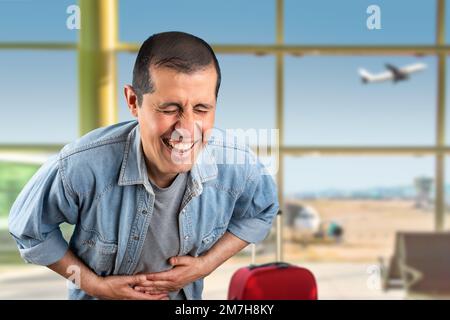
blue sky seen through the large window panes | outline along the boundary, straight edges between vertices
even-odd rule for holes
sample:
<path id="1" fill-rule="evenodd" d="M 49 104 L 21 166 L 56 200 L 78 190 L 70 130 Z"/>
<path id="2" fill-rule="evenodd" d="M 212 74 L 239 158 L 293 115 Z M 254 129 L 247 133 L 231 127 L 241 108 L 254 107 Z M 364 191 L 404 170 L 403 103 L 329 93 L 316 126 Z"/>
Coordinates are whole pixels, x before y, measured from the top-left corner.
<path id="1" fill-rule="evenodd" d="M 74 3 L 0 0 L 0 41 L 75 42 L 77 31 L 65 25 L 66 8 Z M 370 4 L 381 8 L 381 30 L 366 28 Z M 432 44 L 435 38 L 434 1 L 285 0 L 285 8 L 285 41 L 289 44 Z M 273 0 L 121 0 L 119 35 L 122 41 L 142 42 L 155 32 L 182 30 L 213 44 L 273 43 L 274 9 Z M 446 16 L 450 18 L 450 12 Z M 134 58 L 129 53 L 118 55 L 120 120 L 130 118 L 121 88 L 131 81 Z M 223 85 L 216 125 L 274 128 L 274 58 L 218 58 Z M 428 69 L 397 84 L 362 85 L 356 73 L 361 66 L 377 72 L 387 62 L 402 66 L 417 61 L 425 62 Z M 77 137 L 76 62 L 76 53 L 70 51 L 0 51 L 1 143 L 65 143 Z M 435 135 L 436 90 L 434 57 L 287 56 L 286 143 L 430 145 Z M 417 175 L 433 176 L 434 159 L 288 158 L 286 172 L 287 192 L 405 185 Z"/>

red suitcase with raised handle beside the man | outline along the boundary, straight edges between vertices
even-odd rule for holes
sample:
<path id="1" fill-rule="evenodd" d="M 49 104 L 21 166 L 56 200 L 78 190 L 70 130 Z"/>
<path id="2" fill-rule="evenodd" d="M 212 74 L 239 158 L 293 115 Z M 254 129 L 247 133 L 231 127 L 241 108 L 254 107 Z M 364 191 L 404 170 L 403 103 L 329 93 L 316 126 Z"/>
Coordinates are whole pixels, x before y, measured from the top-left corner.
<path id="1" fill-rule="evenodd" d="M 281 211 L 277 216 L 277 259 L 281 250 L 280 214 Z M 253 247 L 253 257 L 254 252 Z M 285 262 L 253 264 L 233 274 L 228 300 L 317 300 L 317 284 L 305 268 Z"/>

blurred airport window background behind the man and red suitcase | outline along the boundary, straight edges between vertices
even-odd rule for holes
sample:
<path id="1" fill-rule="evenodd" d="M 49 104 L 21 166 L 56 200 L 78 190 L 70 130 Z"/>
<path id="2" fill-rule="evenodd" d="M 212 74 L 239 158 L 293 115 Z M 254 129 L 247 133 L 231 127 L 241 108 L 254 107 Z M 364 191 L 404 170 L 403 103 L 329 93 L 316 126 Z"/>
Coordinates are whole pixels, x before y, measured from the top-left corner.
<path id="1" fill-rule="evenodd" d="M 444 0 L 0 0 L 0 299 L 65 299 L 64 279 L 21 260 L 9 209 L 66 143 L 132 119 L 123 86 L 137 50 L 171 30 L 218 55 L 217 127 L 279 130 L 265 160 L 277 168 L 282 252 L 274 228 L 257 263 L 311 269 L 321 299 L 450 296 L 438 285 L 448 271 L 429 271 L 450 247 L 449 10 Z M 398 77 L 417 64 L 426 69 Z M 362 81 L 361 68 L 387 78 Z M 410 282 L 416 250 L 402 234 L 429 236 L 417 267 L 427 283 Z M 249 249 L 226 262 L 204 298 L 225 299 L 249 263 Z"/>

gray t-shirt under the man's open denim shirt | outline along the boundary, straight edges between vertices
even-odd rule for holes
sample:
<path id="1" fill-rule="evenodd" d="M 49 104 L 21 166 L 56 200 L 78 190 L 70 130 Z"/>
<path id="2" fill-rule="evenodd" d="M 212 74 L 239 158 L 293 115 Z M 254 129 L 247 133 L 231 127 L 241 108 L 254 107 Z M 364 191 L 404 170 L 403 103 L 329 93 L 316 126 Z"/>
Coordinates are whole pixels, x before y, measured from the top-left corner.
<path id="1" fill-rule="evenodd" d="M 187 183 L 187 173 L 179 173 L 167 188 L 151 183 L 155 204 L 135 273 L 165 271 L 172 268 L 169 258 L 180 250 L 178 214 Z M 185 300 L 183 290 L 169 292 L 171 300 Z"/>

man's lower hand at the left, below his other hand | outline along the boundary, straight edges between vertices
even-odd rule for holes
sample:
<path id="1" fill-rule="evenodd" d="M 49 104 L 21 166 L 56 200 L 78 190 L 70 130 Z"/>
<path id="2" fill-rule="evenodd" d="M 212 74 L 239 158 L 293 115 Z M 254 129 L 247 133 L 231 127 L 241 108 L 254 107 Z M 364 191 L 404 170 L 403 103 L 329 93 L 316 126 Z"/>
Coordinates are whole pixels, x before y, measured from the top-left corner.
<path id="1" fill-rule="evenodd" d="M 113 300 L 168 300 L 168 292 L 152 290 L 152 293 L 133 290 L 135 286 L 148 284 L 145 275 L 98 277 L 93 284 L 92 295 L 99 299 Z"/>

